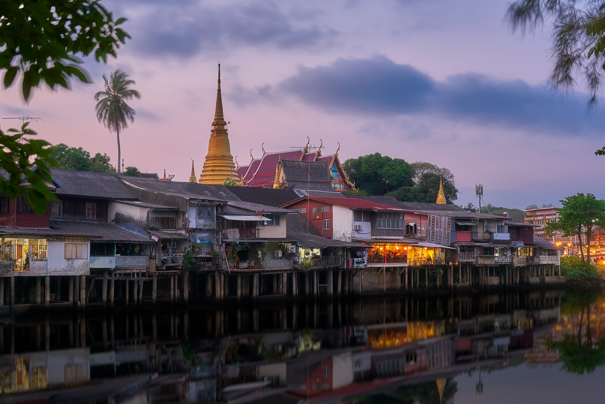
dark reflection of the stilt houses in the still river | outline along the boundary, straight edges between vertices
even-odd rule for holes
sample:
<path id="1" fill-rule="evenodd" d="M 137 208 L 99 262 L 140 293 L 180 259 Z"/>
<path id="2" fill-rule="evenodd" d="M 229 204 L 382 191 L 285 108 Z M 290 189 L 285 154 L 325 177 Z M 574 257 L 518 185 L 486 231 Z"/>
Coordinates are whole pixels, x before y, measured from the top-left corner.
<path id="1" fill-rule="evenodd" d="M 32 307 L 0 324 L 0 401 L 446 403 L 460 377 L 483 397 L 493 373 L 605 364 L 596 292 Z"/>

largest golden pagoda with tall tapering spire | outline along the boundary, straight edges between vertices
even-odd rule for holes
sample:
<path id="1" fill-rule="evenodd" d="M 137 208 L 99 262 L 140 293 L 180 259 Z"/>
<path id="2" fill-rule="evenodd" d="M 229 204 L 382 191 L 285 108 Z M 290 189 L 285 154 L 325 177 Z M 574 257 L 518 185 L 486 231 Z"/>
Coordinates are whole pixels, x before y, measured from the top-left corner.
<path id="1" fill-rule="evenodd" d="M 231 155 L 226 125 L 227 122 L 223 117 L 223 99 L 221 99 L 221 65 L 218 64 L 217 107 L 212 122 L 214 128 L 211 130 L 208 154 L 201 169 L 200 184 L 223 185 L 225 180 L 234 180 L 237 185 L 241 185 Z"/>

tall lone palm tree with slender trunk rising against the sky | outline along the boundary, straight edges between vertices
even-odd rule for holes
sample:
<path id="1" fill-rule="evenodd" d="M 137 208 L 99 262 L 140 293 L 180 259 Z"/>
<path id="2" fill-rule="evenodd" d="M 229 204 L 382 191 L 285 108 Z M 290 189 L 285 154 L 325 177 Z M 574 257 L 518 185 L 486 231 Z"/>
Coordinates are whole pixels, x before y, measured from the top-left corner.
<path id="1" fill-rule="evenodd" d="M 117 173 L 120 174 L 120 129 L 128 127 L 128 121 L 134 122 L 134 110 L 126 104 L 126 100 L 133 97 L 140 99 L 139 91 L 129 88 L 135 84 L 133 80 L 128 79 L 128 73 L 117 69 L 111 73 L 110 78 L 105 80 L 105 91 L 99 91 L 94 94 L 94 99 L 97 102 L 97 119 L 110 132 L 115 131 L 117 134 Z"/>

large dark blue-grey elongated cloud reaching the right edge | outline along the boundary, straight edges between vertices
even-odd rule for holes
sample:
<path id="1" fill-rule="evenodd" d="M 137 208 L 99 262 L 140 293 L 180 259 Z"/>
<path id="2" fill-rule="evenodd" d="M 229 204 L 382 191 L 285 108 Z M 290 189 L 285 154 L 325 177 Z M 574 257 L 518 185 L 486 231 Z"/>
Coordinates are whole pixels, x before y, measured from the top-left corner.
<path id="1" fill-rule="evenodd" d="M 278 89 L 336 113 L 430 115 L 583 136 L 600 133 L 605 124 L 602 113 L 587 116 L 585 94 L 563 96 L 545 86 L 476 73 L 435 81 L 416 68 L 396 64 L 385 56 L 338 59 L 326 66 L 301 67 Z"/>

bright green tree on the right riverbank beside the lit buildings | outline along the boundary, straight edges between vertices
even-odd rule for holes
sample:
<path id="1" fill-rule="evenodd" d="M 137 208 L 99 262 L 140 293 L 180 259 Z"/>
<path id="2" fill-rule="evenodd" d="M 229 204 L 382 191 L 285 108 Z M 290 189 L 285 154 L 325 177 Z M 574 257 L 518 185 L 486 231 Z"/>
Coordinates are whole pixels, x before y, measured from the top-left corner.
<path id="1" fill-rule="evenodd" d="M 576 194 L 567 196 L 560 201 L 563 204 L 558 213 L 557 221 L 548 222 L 545 226 L 546 233 L 555 231 L 563 233 L 564 237 L 578 236 L 582 240 L 582 234 L 586 235 L 586 262 L 590 262 L 590 236 L 594 226 L 605 226 L 605 200 L 597 199 L 593 194 Z M 580 245 L 582 262 L 584 261 L 584 250 Z"/>

